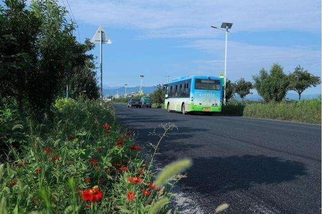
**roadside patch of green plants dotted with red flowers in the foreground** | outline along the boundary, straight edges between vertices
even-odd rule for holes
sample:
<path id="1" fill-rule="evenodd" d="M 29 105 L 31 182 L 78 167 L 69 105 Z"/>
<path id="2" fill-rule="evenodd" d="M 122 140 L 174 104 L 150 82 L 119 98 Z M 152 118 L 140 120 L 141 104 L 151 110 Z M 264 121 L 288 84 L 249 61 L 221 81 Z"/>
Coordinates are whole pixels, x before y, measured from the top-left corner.
<path id="1" fill-rule="evenodd" d="M 176 174 L 174 167 L 168 167 L 163 182 L 155 185 L 151 164 L 133 145 L 133 133 L 118 125 L 110 103 L 59 99 L 52 111 L 53 122 L 31 125 L 21 151 L 11 148 L 14 159 L 0 165 L 2 211 L 156 213 L 165 209 L 169 192 L 164 183 Z M 190 162 L 176 164 L 187 167 Z"/>

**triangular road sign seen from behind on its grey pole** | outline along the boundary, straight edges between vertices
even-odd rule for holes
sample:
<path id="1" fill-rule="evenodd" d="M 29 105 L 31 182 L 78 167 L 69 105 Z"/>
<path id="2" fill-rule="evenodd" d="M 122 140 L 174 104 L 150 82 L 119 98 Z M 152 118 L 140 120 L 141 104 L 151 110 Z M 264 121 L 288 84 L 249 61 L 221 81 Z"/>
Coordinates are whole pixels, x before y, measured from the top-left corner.
<path id="1" fill-rule="evenodd" d="M 100 98 L 103 99 L 103 46 L 102 44 L 112 44 L 109 36 L 105 32 L 102 26 L 96 31 L 91 42 L 100 43 L 100 71 L 101 71 L 101 88 L 100 88 Z"/>

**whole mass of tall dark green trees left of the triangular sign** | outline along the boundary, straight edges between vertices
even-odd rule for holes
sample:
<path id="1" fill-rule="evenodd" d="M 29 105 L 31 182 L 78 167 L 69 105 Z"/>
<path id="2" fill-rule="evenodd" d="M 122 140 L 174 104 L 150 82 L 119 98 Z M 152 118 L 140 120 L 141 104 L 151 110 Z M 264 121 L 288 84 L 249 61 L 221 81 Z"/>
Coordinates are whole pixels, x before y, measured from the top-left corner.
<path id="1" fill-rule="evenodd" d="M 67 11 L 55 0 L 6 0 L 0 9 L 1 96 L 14 96 L 20 114 L 29 104 L 37 118 L 48 113 L 52 101 L 64 95 L 97 98 L 94 45 L 80 44 L 72 36 Z M 13 29 L 15 29 L 13 31 Z M 83 91 L 86 91 L 85 93 Z"/>

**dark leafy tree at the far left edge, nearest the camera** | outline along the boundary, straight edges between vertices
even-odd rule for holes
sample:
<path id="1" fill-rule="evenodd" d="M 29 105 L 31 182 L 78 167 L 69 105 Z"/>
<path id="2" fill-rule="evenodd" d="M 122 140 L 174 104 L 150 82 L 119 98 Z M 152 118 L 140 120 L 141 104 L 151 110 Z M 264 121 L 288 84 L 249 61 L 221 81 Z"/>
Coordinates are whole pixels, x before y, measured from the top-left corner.
<path id="1" fill-rule="evenodd" d="M 22 114 L 36 72 L 40 20 L 23 0 L 6 0 L 0 6 L 0 95 L 14 96 Z"/>

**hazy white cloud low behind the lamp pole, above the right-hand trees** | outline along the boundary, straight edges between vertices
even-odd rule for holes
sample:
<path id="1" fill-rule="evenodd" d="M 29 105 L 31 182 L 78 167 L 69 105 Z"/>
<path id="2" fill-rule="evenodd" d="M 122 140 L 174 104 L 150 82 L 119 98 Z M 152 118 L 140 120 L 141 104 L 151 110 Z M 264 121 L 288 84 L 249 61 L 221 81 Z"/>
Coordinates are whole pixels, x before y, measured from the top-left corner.
<path id="1" fill-rule="evenodd" d="M 214 60 L 196 60 L 194 69 L 212 71 L 214 75 L 223 71 L 223 41 L 196 40 L 183 47 L 202 50 L 214 58 Z M 320 50 L 306 47 L 260 46 L 228 42 L 227 53 L 227 75 L 233 80 L 239 77 L 251 80 L 252 75 L 258 74 L 258 71 L 263 67 L 269 70 L 274 62 L 281 64 L 286 73 L 293 71 L 294 67 L 300 64 L 314 75 L 320 76 Z"/>

